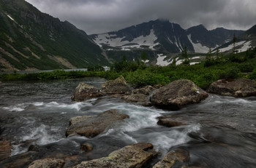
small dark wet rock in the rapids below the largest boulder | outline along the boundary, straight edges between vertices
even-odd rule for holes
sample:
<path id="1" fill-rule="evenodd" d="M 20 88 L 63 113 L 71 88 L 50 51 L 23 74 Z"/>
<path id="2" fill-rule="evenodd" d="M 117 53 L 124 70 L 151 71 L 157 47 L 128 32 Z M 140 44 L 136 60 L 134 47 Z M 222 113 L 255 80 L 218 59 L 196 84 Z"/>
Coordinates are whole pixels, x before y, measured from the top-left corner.
<path id="1" fill-rule="evenodd" d="M 181 118 L 172 118 L 172 116 L 160 116 L 158 119 L 157 124 L 165 127 L 178 127 L 188 124 L 187 121 Z"/>

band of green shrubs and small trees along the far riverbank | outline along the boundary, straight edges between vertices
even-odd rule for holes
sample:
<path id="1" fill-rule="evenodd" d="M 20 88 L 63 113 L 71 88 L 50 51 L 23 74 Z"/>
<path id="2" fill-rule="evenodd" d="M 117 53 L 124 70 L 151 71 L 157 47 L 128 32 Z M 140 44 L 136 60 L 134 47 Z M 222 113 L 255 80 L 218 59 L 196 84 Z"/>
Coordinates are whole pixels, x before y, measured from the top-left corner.
<path id="1" fill-rule="evenodd" d="M 157 65 L 146 65 L 142 61 L 130 61 L 124 56 L 119 62 L 113 63 L 110 71 L 101 71 L 101 68 L 89 68 L 90 71 L 63 71 L 56 70 L 42 73 L 25 74 L 2 74 L 2 80 L 52 80 L 72 79 L 88 76 L 99 76 L 105 79 L 116 79 L 118 76 L 124 78 L 135 87 L 145 85 L 167 84 L 177 79 L 189 79 L 199 87 L 205 89 L 213 81 L 218 79 L 247 78 L 256 79 L 256 48 L 242 53 L 231 53 L 219 57 L 219 53 L 211 53 L 202 63 L 195 65 L 173 65 L 161 67 Z M 236 59 L 234 59 L 236 58 Z M 211 60 L 211 64 L 207 61 Z"/>

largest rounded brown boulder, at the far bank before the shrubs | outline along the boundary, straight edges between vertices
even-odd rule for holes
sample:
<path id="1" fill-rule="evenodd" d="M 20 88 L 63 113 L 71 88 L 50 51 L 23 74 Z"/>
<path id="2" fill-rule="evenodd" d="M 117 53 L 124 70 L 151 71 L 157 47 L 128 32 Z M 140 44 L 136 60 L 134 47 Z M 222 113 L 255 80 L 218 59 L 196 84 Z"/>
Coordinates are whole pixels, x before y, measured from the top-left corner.
<path id="1" fill-rule="evenodd" d="M 178 110 L 192 103 L 199 103 L 208 94 L 192 81 L 181 79 L 161 87 L 152 97 L 151 103 L 160 108 Z"/>

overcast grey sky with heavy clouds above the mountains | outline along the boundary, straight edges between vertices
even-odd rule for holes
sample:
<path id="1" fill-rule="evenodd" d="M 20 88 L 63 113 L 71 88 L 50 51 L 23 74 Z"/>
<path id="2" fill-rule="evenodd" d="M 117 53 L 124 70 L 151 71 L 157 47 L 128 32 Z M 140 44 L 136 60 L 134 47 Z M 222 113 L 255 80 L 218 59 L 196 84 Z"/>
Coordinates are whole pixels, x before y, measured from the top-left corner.
<path id="1" fill-rule="evenodd" d="M 256 24 L 256 0 L 26 0 L 86 33 L 118 31 L 158 18 L 186 29 L 203 24 L 246 30 Z"/>

